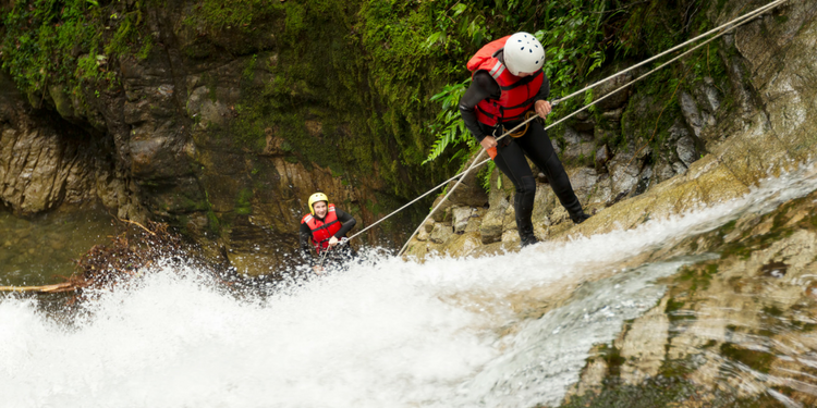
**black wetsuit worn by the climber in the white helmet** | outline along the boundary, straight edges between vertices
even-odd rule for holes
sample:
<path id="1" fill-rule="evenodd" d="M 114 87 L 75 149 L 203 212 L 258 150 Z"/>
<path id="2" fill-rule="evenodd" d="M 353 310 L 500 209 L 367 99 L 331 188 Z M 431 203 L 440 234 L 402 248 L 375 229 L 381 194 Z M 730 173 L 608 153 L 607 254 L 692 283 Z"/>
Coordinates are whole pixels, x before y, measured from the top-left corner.
<path id="1" fill-rule="evenodd" d="M 498 55 L 502 60 L 502 55 Z M 547 100 L 550 95 L 550 81 L 545 76 L 536 101 Z M 474 137 L 481 141 L 485 136 L 493 135 L 493 127 L 477 121 L 475 107 L 483 99 L 499 99 L 499 84 L 485 71 L 477 72 L 471 86 L 460 99 L 460 113 L 462 114 L 465 126 L 471 131 Z M 534 103 L 536 103 L 534 101 Z M 507 129 L 516 126 L 516 123 L 504 123 Z M 497 132 L 499 137 L 504 133 Z M 534 197 L 536 196 L 536 178 L 531 171 L 531 166 L 525 160 L 527 156 L 539 170 L 545 173 L 550 183 L 550 187 L 559 198 L 559 202 L 568 210 L 573 222 L 582 222 L 587 215 L 582 210 L 582 205 L 573 191 L 568 173 L 564 171 L 559 157 L 553 151 L 553 145 L 548 137 L 547 131 L 538 121 L 532 121 L 525 135 L 519 138 L 510 136 L 498 141 L 497 157 L 493 162 L 502 173 L 508 176 L 516 188 L 513 206 L 516 210 L 516 227 L 523 244 L 536 242 L 534 236 L 533 222 L 531 221 L 534 211 Z"/>

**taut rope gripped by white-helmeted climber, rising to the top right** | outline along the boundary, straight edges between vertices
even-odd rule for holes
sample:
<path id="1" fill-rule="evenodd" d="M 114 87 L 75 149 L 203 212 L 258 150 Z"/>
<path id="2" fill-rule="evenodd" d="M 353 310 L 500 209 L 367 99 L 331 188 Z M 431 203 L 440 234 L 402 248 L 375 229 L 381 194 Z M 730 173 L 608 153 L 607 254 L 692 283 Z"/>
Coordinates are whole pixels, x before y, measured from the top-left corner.
<path id="1" fill-rule="evenodd" d="M 663 55 L 666 55 L 666 54 L 668 54 L 668 53 L 670 53 L 670 52 L 673 52 L 673 51 L 675 51 L 675 50 L 678 50 L 678 49 L 680 49 L 680 48 L 683 48 L 683 47 L 685 47 L 685 46 L 687 46 L 687 45 L 690 45 L 690 44 L 693 44 L 693 42 L 695 42 L 695 41 L 697 41 L 697 40 L 699 40 L 699 39 L 702 39 L 702 38 L 704 38 L 704 37 L 706 37 L 706 36 L 709 36 L 709 35 L 711 35 L 711 34 L 714 34 L 714 33 L 720 32 L 720 33 L 719 33 L 718 35 L 716 35 L 715 37 L 711 37 L 711 38 L 707 39 L 706 41 L 704 41 L 704 42 L 702 42 L 702 44 L 699 44 L 699 45 L 697 45 L 697 46 L 693 47 L 692 49 L 687 50 L 687 51 L 686 51 L 686 52 L 684 52 L 684 53 L 681 53 L 680 55 L 678 55 L 678 57 L 675 57 L 675 58 L 671 59 L 670 61 L 667 61 L 667 62 L 664 62 L 663 64 L 659 65 L 658 67 L 656 67 L 656 69 L 654 69 L 654 70 L 651 70 L 651 71 L 649 71 L 648 73 L 646 73 L 646 74 L 644 74 L 644 75 L 642 75 L 642 76 L 639 76 L 639 77 L 637 77 L 637 78 L 635 78 L 635 79 L 631 81 L 631 82 L 630 82 L 630 83 L 627 83 L 627 84 L 624 84 L 623 86 L 621 86 L 621 87 L 617 88 L 615 90 L 613 90 L 613 91 L 611 91 L 611 92 L 607 94 L 606 96 L 603 96 L 603 97 L 601 97 L 601 98 L 597 99 L 597 100 L 596 100 L 596 101 L 594 101 L 593 103 L 589 103 L 589 104 L 587 104 L 587 106 L 585 106 L 585 107 L 583 107 L 583 108 L 581 108 L 581 109 L 578 109 L 578 110 L 574 111 L 573 113 L 571 113 L 571 114 L 569 114 L 569 115 L 566 115 L 566 116 L 562 118 L 561 120 L 559 120 L 559 121 L 557 121 L 557 122 L 554 122 L 554 123 L 552 123 L 552 124 L 548 125 L 547 127 L 545 127 L 545 131 L 547 131 L 547 129 L 549 129 L 549 128 L 551 128 L 551 127 L 553 127 L 553 126 L 556 126 L 556 125 L 558 125 L 558 124 L 560 124 L 560 123 L 562 123 L 562 122 L 564 122 L 564 121 L 566 121 L 566 120 L 568 120 L 568 119 L 570 119 L 570 118 L 573 118 L 573 116 L 575 116 L 575 115 L 576 115 L 576 114 L 578 114 L 580 112 L 582 112 L 582 111 L 584 111 L 584 110 L 586 110 L 586 109 L 588 109 L 588 108 L 593 107 L 594 104 L 596 104 L 596 103 L 598 103 L 598 102 L 600 102 L 600 101 L 602 101 L 602 100 L 607 99 L 608 97 L 610 97 L 610 96 L 612 96 L 612 95 L 617 94 L 618 91 L 620 91 L 620 90 L 622 90 L 622 89 L 624 89 L 624 88 L 626 88 L 626 87 L 629 87 L 629 86 L 631 86 L 631 85 L 635 84 L 635 83 L 636 83 L 636 82 L 638 82 L 638 81 L 642 81 L 642 79 L 644 79 L 645 77 L 647 77 L 647 76 L 651 75 L 651 74 L 653 74 L 653 73 L 655 73 L 656 71 L 658 71 L 658 70 L 660 70 L 660 69 L 662 69 L 662 67 L 664 67 L 664 66 L 667 66 L 667 65 L 669 65 L 669 64 L 671 64 L 671 63 L 673 63 L 673 62 L 675 62 L 675 61 L 678 61 L 679 59 L 681 59 L 681 58 L 683 58 L 683 57 L 685 57 L 685 55 L 687 55 L 687 54 L 692 53 L 693 51 L 697 50 L 698 48 L 700 48 L 700 47 L 703 47 L 703 46 L 705 46 L 705 45 L 707 45 L 707 44 L 709 44 L 709 42 L 714 41 L 715 39 L 717 39 L 717 38 L 719 38 L 719 37 L 721 37 L 721 36 L 723 36 L 723 35 L 724 35 L 724 34 L 727 34 L 728 32 L 730 32 L 730 30 L 732 30 L 732 29 L 734 29 L 734 28 L 737 28 L 737 27 L 740 27 L 741 25 L 743 25 L 743 24 L 747 23 L 747 22 L 748 22 L 749 20 L 754 18 L 755 16 L 758 16 L 758 15 L 760 15 L 760 14 L 763 14 L 763 13 L 765 13 L 765 12 L 767 12 L 767 11 L 771 10 L 771 9 L 775 9 L 775 8 L 777 8 L 778 5 L 780 5 L 780 4 L 782 4 L 782 3 L 786 2 L 786 1 L 789 1 L 789 0 L 777 0 L 777 1 L 773 1 L 773 2 L 771 2 L 771 3 L 769 3 L 769 4 L 766 4 L 766 5 L 764 5 L 764 7 L 760 7 L 760 8 L 756 9 L 756 10 L 754 10 L 754 11 L 749 12 L 749 13 L 746 13 L 746 14 L 744 14 L 744 15 L 742 15 L 742 16 L 737 17 L 737 18 L 734 18 L 734 20 L 730 21 L 729 23 L 725 23 L 725 24 L 723 24 L 723 25 L 720 25 L 720 26 L 718 26 L 717 28 L 714 28 L 714 29 L 711 29 L 711 30 L 709 30 L 709 32 L 707 32 L 707 33 L 705 33 L 705 34 L 702 34 L 702 35 L 699 35 L 699 36 L 697 36 L 697 37 L 695 37 L 695 38 L 693 38 L 693 39 L 690 39 L 690 40 L 687 40 L 687 41 L 685 41 L 685 42 L 683 42 L 683 44 L 681 44 L 681 45 L 678 45 L 678 46 L 675 46 L 675 47 L 673 47 L 673 48 L 670 48 L 669 50 L 667 50 L 667 51 L 663 51 L 663 52 L 661 52 L 661 53 L 659 53 L 659 54 L 657 54 L 657 55 L 655 55 L 655 57 L 653 57 L 653 58 L 649 58 L 649 59 L 647 59 L 647 60 L 645 60 L 645 61 L 642 61 L 642 62 L 639 62 L 639 63 L 637 63 L 637 64 L 635 64 L 635 65 L 633 65 L 633 66 L 630 66 L 630 67 L 627 67 L 627 69 L 625 69 L 625 70 L 623 70 L 623 71 L 621 71 L 621 72 L 619 72 L 619 73 L 617 73 L 617 74 L 614 74 L 614 75 L 611 75 L 611 76 L 609 76 L 609 77 L 607 77 L 607 78 L 605 78 L 605 79 L 598 81 L 598 82 L 596 82 L 595 84 L 588 85 L 588 86 L 584 87 L 584 88 L 583 88 L 583 89 L 581 89 L 581 90 L 577 90 L 577 91 L 575 91 L 575 92 L 573 92 L 573 94 L 571 94 L 571 95 L 568 95 L 566 97 L 563 97 L 563 98 L 557 99 L 556 101 L 553 101 L 553 102 L 551 103 L 551 106 L 557 106 L 558 103 L 561 103 L 561 102 L 563 102 L 563 101 L 565 101 L 565 100 L 568 100 L 568 99 L 570 99 L 570 98 L 573 98 L 573 97 L 575 97 L 575 96 L 577 96 L 577 95 L 581 95 L 581 94 L 585 92 L 585 91 L 586 91 L 586 90 L 588 90 L 588 89 L 592 89 L 592 88 L 594 88 L 594 87 L 596 87 L 596 86 L 598 86 L 598 85 L 600 85 L 600 84 L 603 84 L 603 83 L 606 83 L 606 82 L 608 82 L 608 81 L 610 81 L 610 79 L 613 79 L 613 78 L 618 77 L 619 75 L 622 75 L 622 74 L 625 74 L 625 73 L 627 73 L 627 72 L 630 72 L 630 71 L 633 71 L 633 70 L 635 70 L 635 69 L 637 69 L 637 67 L 639 67 L 639 66 L 643 66 L 643 65 L 645 65 L 645 64 L 647 64 L 647 63 L 649 63 L 649 62 L 651 62 L 651 61 L 655 61 L 656 59 L 659 59 L 659 58 L 661 58 L 661 57 L 663 57 Z M 524 121 L 524 122 L 522 122 L 521 124 L 519 124 L 519 125 L 517 125 L 516 127 L 512 128 L 511 131 L 508 131 L 508 132 L 505 132 L 505 133 L 504 133 L 504 134 L 503 134 L 502 136 L 498 137 L 498 138 L 497 138 L 497 140 L 500 140 L 500 139 L 502 139 L 503 137 L 505 137 L 505 136 L 508 136 L 508 135 L 512 134 L 513 132 L 515 132 L 516 129 L 519 129 L 519 128 L 520 128 L 520 127 L 522 127 L 522 126 L 527 126 L 527 123 L 528 123 L 528 122 L 531 122 L 531 121 L 533 121 L 533 120 L 534 120 L 534 119 L 536 119 L 536 118 L 538 118 L 538 114 L 535 114 L 535 115 L 533 115 L 532 118 L 529 118 L 529 119 L 527 119 L 526 121 Z M 423 222 L 422 222 L 422 223 L 419 224 L 419 226 L 418 226 L 418 227 L 417 227 L 417 228 L 416 228 L 416 230 L 414 231 L 414 233 L 412 233 L 412 235 L 411 235 L 411 236 L 408 237 L 408 239 L 406 239 L 405 244 L 404 244 L 404 245 L 403 245 L 403 247 L 402 247 L 402 248 L 400 249 L 400 252 L 398 252 L 398 257 L 399 257 L 399 256 L 402 256 L 402 255 L 403 255 L 403 252 L 405 251 L 406 247 L 408 246 L 408 243 L 410 243 L 410 242 L 412 240 L 412 238 L 414 238 L 414 236 L 415 236 L 415 235 L 417 234 L 417 232 L 419 232 L 419 228 L 422 228 L 422 227 L 423 227 L 423 225 L 424 225 L 424 224 L 426 223 L 426 221 L 428 221 L 428 219 L 429 219 L 429 218 L 431 218 L 431 215 L 434 215 L 435 211 L 437 211 L 437 209 L 439 209 L 439 208 L 440 208 L 440 206 L 442 206 L 442 203 L 443 203 L 443 202 L 446 202 L 446 200 L 448 199 L 448 197 L 449 197 L 449 196 L 451 196 L 451 194 L 452 194 L 452 193 L 454 191 L 454 189 L 455 189 L 455 188 L 456 188 L 456 187 L 458 187 L 458 186 L 460 185 L 460 183 L 462 182 L 462 180 L 463 180 L 463 178 L 465 178 L 465 175 L 467 175 L 467 174 L 468 174 L 468 172 L 471 172 L 471 170 L 472 170 L 472 169 L 474 169 L 474 168 L 477 168 L 477 166 L 479 166 L 479 165 L 483 165 L 483 164 L 487 163 L 487 162 L 488 162 L 489 160 L 491 160 L 491 159 L 486 159 L 486 160 L 484 160 L 484 161 L 481 161 L 481 162 L 477 163 L 476 161 L 477 161 L 477 160 L 479 159 L 479 157 L 481 157 L 481 156 L 483 156 L 483 153 L 484 153 L 484 152 L 485 152 L 485 149 L 483 149 L 483 150 L 481 150 L 481 151 L 479 152 L 479 154 L 477 156 L 477 158 L 476 158 L 476 159 L 474 159 L 474 162 L 473 162 L 473 163 L 471 164 L 471 166 L 470 166 L 470 168 L 468 168 L 468 169 L 467 169 L 466 171 L 464 171 L 463 173 L 460 173 L 460 174 L 455 175 L 454 177 L 452 177 L 452 178 L 455 178 L 455 177 L 459 177 L 459 176 L 461 176 L 461 175 L 462 175 L 462 178 L 458 180 L 456 184 L 454 184 L 454 186 L 453 186 L 453 187 L 451 188 L 451 190 L 450 190 L 450 191 L 449 191 L 449 193 L 448 193 L 448 194 L 447 194 L 447 195 L 446 195 L 446 196 L 444 196 L 444 197 L 442 198 L 442 200 L 440 200 L 440 202 L 439 202 L 439 203 L 438 203 L 438 205 L 437 205 L 437 206 L 436 206 L 436 207 L 435 207 L 435 208 L 434 208 L 434 209 L 431 210 L 431 212 L 429 212 L 428 217 L 426 217 L 426 218 L 425 218 L 425 220 L 423 220 Z M 437 188 L 439 188 L 439 187 L 435 187 L 435 190 L 436 190 Z M 429 193 L 430 193 L 430 191 L 429 191 Z"/>

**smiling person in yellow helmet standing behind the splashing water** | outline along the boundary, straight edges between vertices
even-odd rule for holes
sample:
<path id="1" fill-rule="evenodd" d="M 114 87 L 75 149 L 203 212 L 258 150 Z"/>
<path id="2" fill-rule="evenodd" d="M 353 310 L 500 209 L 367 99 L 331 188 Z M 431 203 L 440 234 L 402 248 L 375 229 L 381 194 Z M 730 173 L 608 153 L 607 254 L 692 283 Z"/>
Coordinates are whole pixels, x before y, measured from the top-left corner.
<path id="1" fill-rule="evenodd" d="M 349 245 L 340 245 L 357 221 L 351 214 L 334 208 L 324 193 L 309 196 L 309 213 L 301 219 L 301 252 L 316 271 L 327 264 L 341 263 L 354 257 Z M 326 254 L 324 254 L 326 251 Z M 321 256 L 324 264 L 318 264 Z"/>

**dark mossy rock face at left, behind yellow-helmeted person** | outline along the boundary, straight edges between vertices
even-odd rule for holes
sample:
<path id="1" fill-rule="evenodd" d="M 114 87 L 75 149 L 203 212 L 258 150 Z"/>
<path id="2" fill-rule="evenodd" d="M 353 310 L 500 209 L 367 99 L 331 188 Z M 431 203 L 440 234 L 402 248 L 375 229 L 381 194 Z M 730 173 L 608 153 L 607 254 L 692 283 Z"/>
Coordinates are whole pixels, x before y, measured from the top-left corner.
<path id="1" fill-rule="evenodd" d="M 114 38 L 105 50 L 78 44 L 50 55 L 90 66 L 80 64 L 74 82 L 49 77 L 38 95 L 3 76 L 0 202 L 28 214 L 101 201 L 120 218 L 168 221 L 240 271 L 266 273 L 294 263 L 286 260 L 313 193 L 326 193 L 359 230 L 430 187 L 430 166 L 403 157 L 425 147 L 401 139 L 413 129 L 389 123 L 405 119 L 349 58 L 354 42 L 337 35 L 353 29 L 351 20 L 309 4 L 266 5 L 252 11 L 265 18 L 256 26 L 233 27 L 197 2 L 102 4 L 110 18 L 99 37 L 127 34 L 119 46 L 131 51 L 114 50 Z M 228 14 L 239 12 L 247 11 Z M 297 39 L 307 27 L 290 27 L 286 13 L 301 12 L 315 29 Z M 27 24 L 26 33 L 39 21 Z M 355 245 L 400 242 L 419 211 Z"/>

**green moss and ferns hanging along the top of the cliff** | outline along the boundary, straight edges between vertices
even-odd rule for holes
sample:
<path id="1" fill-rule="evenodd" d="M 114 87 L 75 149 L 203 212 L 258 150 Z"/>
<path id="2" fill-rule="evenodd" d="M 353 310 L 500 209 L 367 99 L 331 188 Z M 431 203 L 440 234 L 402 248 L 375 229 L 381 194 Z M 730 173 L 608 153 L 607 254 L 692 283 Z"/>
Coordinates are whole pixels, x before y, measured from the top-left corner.
<path id="1" fill-rule="evenodd" d="M 233 75 L 241 99 L 229 107 L 232 118 L 208 124 L 208 135 L 249 152 L 282 139 L 289 162 L 331 169 L 353 185 L 376 181 L 378 194 L 406 198 L 448 178 L 477 147 L 456 102 L 470 81 L 465 62 L 487 41 L 535 33 L 548 48 L 545 71 L 557 98 L 703 29 L 704 13 L 686 13 L 690 1 L 14 0 L 1 17 L 0 62 L 32 100 L 68 100 L 84 108 L 78 116 L 99 124 L 90 111 L 108 92 L 122 90 L 125 59 L 163 58 L 157 47 L 181 46 L 181 63 L 188 66 L 239 60 Z M 163 26 L 174 17 L 182 24 Z M 157 26 L 172 29 L 179 44 L 162 39 Z M 725 71 L 717 51 L 712 46 L 706 58 L 697 55 L 685 82 L 682 71 L 669 71 L 644 86 L 661 100 L 672 91 L 667 84 L 685 87 L 718 76 Z M 212 101 L 224 95 L 217 75 L 205 71 L 200 78 Z M 49 97 L 57 92 L 68 98 Z M 594 97 L 585 94 L 584 102 Z M 569 100 L 551 118 L 582 102 Z M 663 116 L 658 110 L 644 115 L 645 128 L 656 118 L 666 128 L 676 113 L 676 101 L 670 102 Z M 623 144 L 622 135 L 618 129 L 611 137 Z M 480 171 L 484 184 L 491 173 L 490 166 Z"/>

